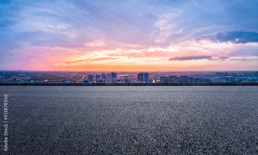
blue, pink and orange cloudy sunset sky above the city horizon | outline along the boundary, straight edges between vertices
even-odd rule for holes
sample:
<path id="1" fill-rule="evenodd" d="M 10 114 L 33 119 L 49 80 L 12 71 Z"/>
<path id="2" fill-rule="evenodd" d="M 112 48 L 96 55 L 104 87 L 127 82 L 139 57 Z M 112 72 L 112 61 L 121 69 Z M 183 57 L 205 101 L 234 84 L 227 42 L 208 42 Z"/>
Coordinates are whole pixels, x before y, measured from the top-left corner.
<path id="1" fill-rule="evenodd" d="M 0 70 L 258 71 L 255 0 L 2 0 Z"/>

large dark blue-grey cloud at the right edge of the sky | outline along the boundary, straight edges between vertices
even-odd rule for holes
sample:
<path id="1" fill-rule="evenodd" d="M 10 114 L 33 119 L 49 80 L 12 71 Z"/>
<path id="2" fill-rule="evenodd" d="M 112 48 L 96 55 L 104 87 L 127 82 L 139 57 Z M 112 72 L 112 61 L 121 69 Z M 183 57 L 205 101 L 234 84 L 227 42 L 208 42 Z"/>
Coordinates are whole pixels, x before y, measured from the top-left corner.
<path id="1" fill-rule="evenodd" d="M 257 43 L 258 33 L 254 31 L 225 31 L 219 32 L 215 36 L 210 37 L 211 40 L 218 43 L 231 42 L 233 44 Z"/>

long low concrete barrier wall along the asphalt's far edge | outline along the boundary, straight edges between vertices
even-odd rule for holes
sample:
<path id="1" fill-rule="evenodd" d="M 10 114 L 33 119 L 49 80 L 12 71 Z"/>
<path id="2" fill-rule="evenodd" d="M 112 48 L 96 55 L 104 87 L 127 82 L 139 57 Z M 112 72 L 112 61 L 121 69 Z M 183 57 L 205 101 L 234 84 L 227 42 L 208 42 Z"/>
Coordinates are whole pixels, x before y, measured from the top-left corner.
<path id="1" fill-rule="evenodd" d="M 258 82 L 193 83 L 0 83 L 0 86 L 258 86 Z"/>

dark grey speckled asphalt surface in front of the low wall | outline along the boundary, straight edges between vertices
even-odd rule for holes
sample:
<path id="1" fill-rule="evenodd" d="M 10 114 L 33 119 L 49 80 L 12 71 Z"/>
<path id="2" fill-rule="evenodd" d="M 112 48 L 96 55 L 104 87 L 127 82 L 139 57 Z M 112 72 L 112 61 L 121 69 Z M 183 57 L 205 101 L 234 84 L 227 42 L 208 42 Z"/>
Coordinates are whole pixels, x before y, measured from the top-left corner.
<path id="1" fill-rule="evenodd" d="M 258 154 L 257 88 L 0 86 L 8 153 Z"/>

